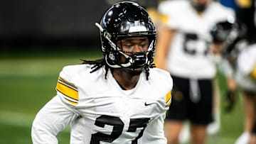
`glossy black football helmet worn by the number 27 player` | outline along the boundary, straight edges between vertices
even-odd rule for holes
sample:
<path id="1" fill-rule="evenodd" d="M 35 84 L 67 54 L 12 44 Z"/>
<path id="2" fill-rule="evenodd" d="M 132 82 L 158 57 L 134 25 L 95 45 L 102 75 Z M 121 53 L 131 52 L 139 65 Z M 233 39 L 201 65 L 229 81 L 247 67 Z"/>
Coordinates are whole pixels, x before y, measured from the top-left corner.
<path id="1" fill-rule="evenodd" d="M 125 67 L 129 70 L 139 67 L 144 69 L 153 65 L 156 28 L 142 6 L 130 1 L 119 2 L 107 10 L 100 24 L 95 24 L 100 29 L 102 52 L 107 65 L 113 68 Z M 147 36 L 149 48 L 146 52 L 132 52 L 132 55 L 126 55 L 122 48 L 117 47 L 117 41 L 134 36 Z M 122 55 L 126 58 L 125 63 L 120 62 Z"/>

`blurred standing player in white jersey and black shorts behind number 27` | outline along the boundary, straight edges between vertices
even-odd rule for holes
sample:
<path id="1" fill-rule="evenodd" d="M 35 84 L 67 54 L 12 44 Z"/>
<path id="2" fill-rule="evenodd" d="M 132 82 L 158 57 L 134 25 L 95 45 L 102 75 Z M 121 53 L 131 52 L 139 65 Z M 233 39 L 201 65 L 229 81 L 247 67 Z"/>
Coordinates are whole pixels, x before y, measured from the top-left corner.
<path id="1" fill-rule="evenodd" d="M 206 143 L 217 88 L 215 62 L 223 46 L 212 40 L 210 28 L 220 21 L 232 23 L 235 13 L 210 0 L 164 1 L 158 10 L 162 23 L 155 62 L 174 78 L 174 98 L 165 123 L 168 142 L 178 143 L 183 123 L 188 120 L 191 143 Z"/>

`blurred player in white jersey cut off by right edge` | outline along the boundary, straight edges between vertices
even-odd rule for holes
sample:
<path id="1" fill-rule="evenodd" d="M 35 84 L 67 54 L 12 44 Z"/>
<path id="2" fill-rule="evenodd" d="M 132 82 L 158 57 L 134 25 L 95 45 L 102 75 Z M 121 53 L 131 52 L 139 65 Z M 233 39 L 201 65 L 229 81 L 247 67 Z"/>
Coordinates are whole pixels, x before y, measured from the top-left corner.
<path id="1" fill-rule="evenodd" d="M 245 132 L 235 144 L 256 143 L 256 44 L 243 48 L 238 55 L 235 79 L 245 97 Z"/>

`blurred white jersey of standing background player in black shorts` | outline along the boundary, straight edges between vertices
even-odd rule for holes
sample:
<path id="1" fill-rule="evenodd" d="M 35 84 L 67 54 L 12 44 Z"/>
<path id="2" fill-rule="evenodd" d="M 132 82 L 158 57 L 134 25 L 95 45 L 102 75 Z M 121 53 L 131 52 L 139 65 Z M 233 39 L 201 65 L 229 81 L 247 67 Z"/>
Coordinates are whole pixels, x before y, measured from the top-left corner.
<path id="1" fill-rule="evenodd" d="M 215 61 L 210 53 L 210 28 L 225 21 L 235 13 L 218 2 L 212 1 L 200 15 L 191 6 L 191 1 L 164 1 L 159 12 L 164 15 L 164 25 L 175 30 L 171 41 L 167 68 L 179 77 L 213 78 Z"/>

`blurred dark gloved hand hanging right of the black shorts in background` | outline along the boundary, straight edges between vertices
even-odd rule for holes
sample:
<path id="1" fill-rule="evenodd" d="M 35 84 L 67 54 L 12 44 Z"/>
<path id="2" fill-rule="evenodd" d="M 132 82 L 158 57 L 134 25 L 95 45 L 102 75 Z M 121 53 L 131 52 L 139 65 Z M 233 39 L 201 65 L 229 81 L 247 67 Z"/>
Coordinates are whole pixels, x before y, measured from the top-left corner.
<path id="1" fill-rule="evenodd" d="M 233 111 L 235 106 L 235 99 L 235 90 L 228 89 L 228 91 L 225 93 L 225 112 L 230 113 L 231 111 Z"/>

